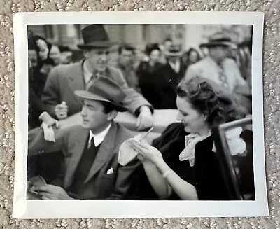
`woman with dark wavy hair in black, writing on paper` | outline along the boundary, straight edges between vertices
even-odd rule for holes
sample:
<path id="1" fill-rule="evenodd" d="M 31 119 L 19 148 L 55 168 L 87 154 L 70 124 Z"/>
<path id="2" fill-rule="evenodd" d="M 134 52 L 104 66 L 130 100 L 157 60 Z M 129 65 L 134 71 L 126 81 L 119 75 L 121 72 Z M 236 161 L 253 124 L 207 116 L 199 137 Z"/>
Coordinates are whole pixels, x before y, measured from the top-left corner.
<path id="1" fill-rule="evenodd" d="M 220 85 L 206 78 L 181 81 L 179 123 L 169 125 L 153 146 L 135 141 L 148 181 L 160 199 L 229 200 L 211 128 L 244 116 Z"/>

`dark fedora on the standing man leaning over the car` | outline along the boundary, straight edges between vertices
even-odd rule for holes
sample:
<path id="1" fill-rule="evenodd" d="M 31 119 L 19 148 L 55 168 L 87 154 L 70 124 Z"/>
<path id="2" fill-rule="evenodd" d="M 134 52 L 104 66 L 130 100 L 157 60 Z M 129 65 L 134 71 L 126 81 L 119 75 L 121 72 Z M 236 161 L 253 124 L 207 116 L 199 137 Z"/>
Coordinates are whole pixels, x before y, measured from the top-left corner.
<path id="1" fill-rule="evenodd" d="M 83 44 L 78 48 L 109 48 L 113 46 L 109 36 L 101 24 L 92 24 L 82 29 Z"/>

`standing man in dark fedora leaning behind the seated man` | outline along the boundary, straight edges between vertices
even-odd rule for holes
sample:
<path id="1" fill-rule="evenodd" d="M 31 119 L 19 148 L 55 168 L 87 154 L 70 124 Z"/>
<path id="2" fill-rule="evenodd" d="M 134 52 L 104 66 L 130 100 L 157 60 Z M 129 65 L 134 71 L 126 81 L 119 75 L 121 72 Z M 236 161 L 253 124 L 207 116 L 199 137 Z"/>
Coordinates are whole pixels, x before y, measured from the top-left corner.
<path id="1" fill-rule="evenodd" d="M 124 106 L 138 116 L 137 128 L 144 130 L 153 125 L 153 107 L 127 82 L 119 69 L 109 67 L 109 41 L 103 25 L 89 25 L 82 30 L 84 43 L 78 45 L 85 59 L 73 64 L 55 67 L 45 83 L 42 100 L 51 116 L 63 119 L 80 111 L 82 100 L 74 95 L 75 90 L 87 90 L 99 76 L 116 81 L 125 92 Z"/>

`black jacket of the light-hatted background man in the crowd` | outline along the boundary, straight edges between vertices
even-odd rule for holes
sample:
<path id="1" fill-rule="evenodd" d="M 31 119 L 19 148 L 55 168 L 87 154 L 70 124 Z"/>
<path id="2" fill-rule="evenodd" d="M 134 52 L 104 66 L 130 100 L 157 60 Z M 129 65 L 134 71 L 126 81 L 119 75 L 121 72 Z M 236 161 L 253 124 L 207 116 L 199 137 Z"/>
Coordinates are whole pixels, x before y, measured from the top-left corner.
<path id="1" fill-rule="evenodd" d="M 176 87 L 186 72 L 186 65 L 180 63 L 180 71 L 176 73 L 167 63 L 155 72 L 154 97 L 157 102 L 153 104 L 155 109 L 177 109 Z"/>

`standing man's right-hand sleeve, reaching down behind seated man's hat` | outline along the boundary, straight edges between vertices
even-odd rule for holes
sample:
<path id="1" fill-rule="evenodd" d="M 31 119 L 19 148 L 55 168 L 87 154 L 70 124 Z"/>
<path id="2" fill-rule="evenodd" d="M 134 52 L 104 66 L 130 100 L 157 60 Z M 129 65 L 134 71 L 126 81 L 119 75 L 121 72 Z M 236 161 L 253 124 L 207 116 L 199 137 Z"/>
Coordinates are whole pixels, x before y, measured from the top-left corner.
<path id="1" fill-rule="evenodd" d="M 114 77 L 114 79 L 116 80 L 116 82 L 118 82 L 120 87 L 123 88 L 126 95 L 123 104 L 131 113 L 134 113 L 136 116 L 138 116 L 141 106 L 148 106 L 153 112 L 153 106 L 143 97 L 143 95 L 141 95 L 133 88 L 128 87 L 127 82 L 125 81 L 125 77 L 120 70 L 116 69 L 116 76 Z"/>

